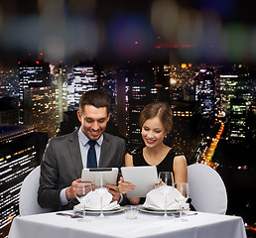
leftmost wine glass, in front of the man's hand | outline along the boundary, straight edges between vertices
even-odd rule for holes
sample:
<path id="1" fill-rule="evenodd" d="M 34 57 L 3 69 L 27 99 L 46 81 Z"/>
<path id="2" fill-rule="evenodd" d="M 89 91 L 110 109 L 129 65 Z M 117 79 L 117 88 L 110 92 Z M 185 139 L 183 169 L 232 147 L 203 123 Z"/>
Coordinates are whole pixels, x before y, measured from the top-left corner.
<path id="1" fill-rule="evenodd" d="M 76 183 L 75 193 L 77 200 L 83 205 L 83 218 L 78 219 L 78 221 L 90 221 L 85 217 L 85 205 L 86 205 L 86 195 L 92 190 L 91 182 L 80 181 Z"/>

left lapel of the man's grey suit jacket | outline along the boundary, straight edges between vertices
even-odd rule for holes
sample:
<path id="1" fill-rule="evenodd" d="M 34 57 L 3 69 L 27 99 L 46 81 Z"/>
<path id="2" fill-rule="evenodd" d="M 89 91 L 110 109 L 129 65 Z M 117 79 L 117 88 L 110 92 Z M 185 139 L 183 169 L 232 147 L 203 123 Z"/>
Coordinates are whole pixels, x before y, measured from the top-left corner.
<path id="1" fill-rule="evenodd" d="M 81 171 L 82 171 L 82 162 L 81 162 L 81 154 L 80 154 L 80 148 L 79 148 L 79 142 L 78 142 L 78 135 L 77 130 L 75 130 L 71 135 L 69 139 L 69 143 L 67 144 L 68 150 L 70 152 L 70 158 L 73 163 L 76 176 L 77 178 L 80 178 Z"/>

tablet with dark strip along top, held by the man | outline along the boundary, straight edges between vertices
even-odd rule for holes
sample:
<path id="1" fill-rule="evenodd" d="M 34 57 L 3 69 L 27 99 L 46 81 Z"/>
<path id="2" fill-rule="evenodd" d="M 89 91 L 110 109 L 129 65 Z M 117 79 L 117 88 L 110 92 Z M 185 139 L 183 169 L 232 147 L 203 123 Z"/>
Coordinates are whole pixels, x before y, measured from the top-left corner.
<path id="1" fill-rule="evenodd" d="M 81 180 L 91 181 L 96 186 L 106 185 L 107 183 L 116 184 L 118 168 L 95 168 L 82 169 Z"/>

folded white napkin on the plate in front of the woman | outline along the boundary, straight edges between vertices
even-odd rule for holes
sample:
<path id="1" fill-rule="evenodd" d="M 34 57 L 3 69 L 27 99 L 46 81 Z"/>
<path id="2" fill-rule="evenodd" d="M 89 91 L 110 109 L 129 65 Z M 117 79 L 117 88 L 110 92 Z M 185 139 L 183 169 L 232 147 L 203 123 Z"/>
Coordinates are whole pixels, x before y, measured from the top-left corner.
<path id="1" fill-rule="evenodd" d="M 159 186 L 158 188 L 149 191 L 146 195 L 146 201 L 142 206 L 149 209 L 164 210 L 165 194 L 167 195 L 168 210 L 180 209 L 179 202 L 181 202 L 183 208 L 189 208 L 189 204 L 186 203 L 186 198 L 182 195 L 182 193 L 175 187 L 168 185 Z"/>

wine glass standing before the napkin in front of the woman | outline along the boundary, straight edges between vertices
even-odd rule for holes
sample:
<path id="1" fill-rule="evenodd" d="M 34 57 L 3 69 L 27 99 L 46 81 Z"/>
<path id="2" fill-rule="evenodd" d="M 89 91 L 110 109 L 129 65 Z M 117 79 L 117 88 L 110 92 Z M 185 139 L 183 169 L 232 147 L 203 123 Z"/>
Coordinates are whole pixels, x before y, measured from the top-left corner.
<path id="1" fill-rule="evenodd" d="M 170 219 L 170 216 L 167 215 L 167 198 L 170 194 L 170 187 L 174 186 L 174 175 L 172 172 L 160 172 L 159 173 L 159 187 L 161 187 L 161 193 L 164 194 L 165 198 L 165 214 L 161 219 Z"/>

